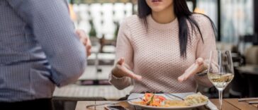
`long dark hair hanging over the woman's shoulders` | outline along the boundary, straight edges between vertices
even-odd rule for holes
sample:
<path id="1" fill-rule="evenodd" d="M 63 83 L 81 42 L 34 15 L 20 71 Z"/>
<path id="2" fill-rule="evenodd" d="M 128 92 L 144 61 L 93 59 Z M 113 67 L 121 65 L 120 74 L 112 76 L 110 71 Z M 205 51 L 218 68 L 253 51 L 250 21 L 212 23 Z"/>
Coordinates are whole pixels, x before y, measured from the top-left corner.
<path id="1" fill-rule="evenodd" d="M 138 0 L 138 16 L 142 18 L 143 23 L 147 26 L 147 16 L 152 13 L 152 9 L 147 5 L 145 0 Z M 174 0 L 174 13 L 179 21 L 179 44 L 180 44 L 180 55 L 181 57 L 186 58 L 186 47 L 191 41 L 191 37 L 189 37 L 189 33 L 194 34 L 196 32 L 196 28 L 198 32 L 201 34 L 200 27 L 196 20 L 192 17 L 194 13 L 192 13 L 187 4 L 186 0 Z M 203 15 L 205 16 L 205 15 Z M 206 16 L 210 21 L 213 27 L 214 34 L 216 36 L 216 29 L 211 18 Z M 187 23 L 189 21 L 191 30 Z M 190 32 L 191 31 L 191 32 Z M 203 35 L 201 34 L 201 39 L 203 41 Z"/>

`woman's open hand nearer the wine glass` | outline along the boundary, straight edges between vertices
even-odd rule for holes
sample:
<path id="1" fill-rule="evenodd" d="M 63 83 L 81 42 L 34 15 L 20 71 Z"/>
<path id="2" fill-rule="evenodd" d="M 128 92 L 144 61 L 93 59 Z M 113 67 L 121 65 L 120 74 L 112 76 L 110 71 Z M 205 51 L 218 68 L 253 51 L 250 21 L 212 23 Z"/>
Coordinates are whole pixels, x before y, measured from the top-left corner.
<path id="1" fill-rule="evenodd" d="M 198 58 L 196 59 L 196 62 L 194 64 L 192 64 L 189 68 L 186 69 L 186 71 L 184 71 L 183 75 L 177 78 L 177 80 L 179 80 L 179 82 L 183 82 L 184 80 L 187 80 L 192 75 L 195 75 L 196 73 L 199 73 L 201 71 L 205 71 L 206 68 L 207 68 L 207 64 L 203 61 L 202 58 Z"/>

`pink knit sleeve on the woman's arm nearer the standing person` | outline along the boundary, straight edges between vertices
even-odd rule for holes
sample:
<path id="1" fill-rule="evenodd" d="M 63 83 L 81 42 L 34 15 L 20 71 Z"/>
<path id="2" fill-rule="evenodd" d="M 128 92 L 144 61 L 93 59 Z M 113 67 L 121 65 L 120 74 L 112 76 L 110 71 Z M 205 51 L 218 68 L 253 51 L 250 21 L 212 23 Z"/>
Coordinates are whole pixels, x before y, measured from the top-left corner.
<path id="1" fill-rule="evenodd" d="M 116 43 L 116 60 L 120 58 L 125 59 L 125 63 L 130 67 L 129 70 L 133 70 L 133 47 L 130 40 L 130 30 L 125 20 L 118 31 L 118 38 Z M 131 85 L 132 79 L 129 77 L 116 78 L 112 73 L 109 75 L 109 82 L 114 85 L 118 90 L 123 90 L 125 87 Z"/>

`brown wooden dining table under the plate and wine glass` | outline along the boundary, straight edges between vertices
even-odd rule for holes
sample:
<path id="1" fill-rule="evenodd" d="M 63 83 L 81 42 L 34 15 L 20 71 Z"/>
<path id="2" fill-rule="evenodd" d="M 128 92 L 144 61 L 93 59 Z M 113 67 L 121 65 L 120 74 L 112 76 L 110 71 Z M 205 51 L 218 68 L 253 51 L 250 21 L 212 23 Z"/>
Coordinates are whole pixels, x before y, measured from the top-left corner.
<path id="1" fill-rule="evenodd" d="M 219 106 L 218 99 L 210 99 L 210 101 L 215 105 Z M 258 100 L 252 100 L 252 102 L 257 102 Z M 108 105 L 103 105 L 103 106 L 93 106 L 86 108 L 87 105 L 91 104 L 102 104 L 102 103 L 107 103 L 107 102 L 112 102 L 112 101 L 79 101 L 77 102 L 77 106 L 75 110 L 103 110 L 105 106 Z M 238 99 L 223 99 L 223 110 L 258 110 L 258 105 L 257 104 L 249 104 L 251 101 L 243 101 L 239 102 Z M 138 110 L 135 108 L 135 106 L 130 106 L 128 102 L 119 102 L 119 106 L 125 107 L 125 109 L 128 110 Z M 193 110 L 209 110 L 207 106 L 200 106 L 196 109 Z"/>

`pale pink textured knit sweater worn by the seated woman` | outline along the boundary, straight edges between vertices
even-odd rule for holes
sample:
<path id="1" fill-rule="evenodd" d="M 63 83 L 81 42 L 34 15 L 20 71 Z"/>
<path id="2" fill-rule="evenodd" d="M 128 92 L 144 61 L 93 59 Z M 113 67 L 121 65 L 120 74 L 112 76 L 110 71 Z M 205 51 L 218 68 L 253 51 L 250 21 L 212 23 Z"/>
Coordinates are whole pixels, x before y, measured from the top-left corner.
<path id="1" fill-rule="evenodd" d="M 120 26 L 116 47 L 116 61 L 121 57 L 130 66 L 133 73 L 142 75 L 142 80 L 128 77 L 109 76 L 109 82 L 122 90 L 134 85 L 131 92 L 196 92 L 197 82 L 212 86 L 207 77 L 192 76 L 184 82 L 177 78 L 195 63 L 199 57 L 208 59 L 211 50 L 215 50 L 215 36 L 208 18 L 194 15 L 201 28 L 201 35 L 191 35 L 191 42 L 186 50 L 186 59 L 181 58 L 179 49 L 179 23 L 160 24 L 147 17 L 148 28 L 138 16 L 125 18 Z"/>

